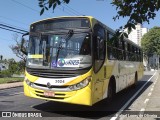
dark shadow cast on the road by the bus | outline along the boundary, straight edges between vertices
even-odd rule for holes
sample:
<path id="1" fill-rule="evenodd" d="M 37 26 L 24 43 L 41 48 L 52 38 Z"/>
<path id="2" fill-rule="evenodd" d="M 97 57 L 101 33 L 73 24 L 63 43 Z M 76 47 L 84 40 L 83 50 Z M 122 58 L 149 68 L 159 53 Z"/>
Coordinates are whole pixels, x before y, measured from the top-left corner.
<path id="1" fill-rule="evenodd" d="M 119 111 L 126 102 L 146 83 L 152 75 L 145 75 L 143 81 L 139 81 L 136 88 L 129 87 L 116 94 L 111 103 L 106 99 L 96 103 L 93 106 L 82 106 L 60 102 L 46 102 L 33 106 L 34 109 L 44 112 L 46 117 L 80 117 L 88 119 L 99 119 L 102 117 L 111 117 Z M 132 100 L 130 105 L 152 84 L 152 81 L 143 88 L 143 90 Z M 128 105 L 125 110 L 128 110 Z"/>

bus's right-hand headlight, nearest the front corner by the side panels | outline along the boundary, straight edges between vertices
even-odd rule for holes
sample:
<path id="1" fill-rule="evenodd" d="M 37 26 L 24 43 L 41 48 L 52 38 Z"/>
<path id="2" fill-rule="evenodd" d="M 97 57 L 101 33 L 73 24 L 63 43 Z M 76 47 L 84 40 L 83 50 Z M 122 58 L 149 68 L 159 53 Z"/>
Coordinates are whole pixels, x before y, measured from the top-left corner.
<path id="1" fill-rule="evenodd" d="M 84 79 L 80 83 L 69 86 L 69 88 L 70 88 L 70 90 L 79 90 L 79 89 L 86 87 L 90 81 L 91 81 L 91 77 L 87 77 L 86 79 Z"/>

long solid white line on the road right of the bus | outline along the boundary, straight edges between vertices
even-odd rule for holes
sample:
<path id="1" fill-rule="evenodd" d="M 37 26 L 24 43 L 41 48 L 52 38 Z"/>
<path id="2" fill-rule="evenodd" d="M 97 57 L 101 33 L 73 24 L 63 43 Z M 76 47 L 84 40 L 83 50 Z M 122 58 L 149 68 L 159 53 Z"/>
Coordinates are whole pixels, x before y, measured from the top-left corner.
<path id="1" fill-rule="evenodd" d="M 150 77 L 147 82 L 126 102 L 126 104 L 112 117 L 110 120 L 116 120 L 118 116 L 124 111 L 124 109 L 131 103 L 131 101 L 141 92 L 141 90 L 147 85 L 148 82 L 156 75 L 157 72 Z"/>

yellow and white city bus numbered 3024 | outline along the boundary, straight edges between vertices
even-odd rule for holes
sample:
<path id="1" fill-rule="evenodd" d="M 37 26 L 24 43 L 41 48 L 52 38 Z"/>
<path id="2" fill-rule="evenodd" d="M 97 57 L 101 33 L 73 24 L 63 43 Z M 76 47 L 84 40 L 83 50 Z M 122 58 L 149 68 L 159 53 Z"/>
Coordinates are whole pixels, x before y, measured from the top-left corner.
<path id="1" fill-rule="evenodd" d="M 141 48 L 91 16 L 31 24 L 24 79 L 28 97 L 92 106 L 143 76 Z"/>

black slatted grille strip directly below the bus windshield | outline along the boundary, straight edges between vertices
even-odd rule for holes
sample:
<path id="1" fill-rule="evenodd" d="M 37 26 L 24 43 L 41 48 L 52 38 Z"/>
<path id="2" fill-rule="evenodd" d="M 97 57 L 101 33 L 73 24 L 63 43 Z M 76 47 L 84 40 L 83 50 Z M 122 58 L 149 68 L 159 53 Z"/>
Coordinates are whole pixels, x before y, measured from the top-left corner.
<path id="1" fill-rule="evenodd" d="M 33 76 L 37 77 L 45 77 L 45 78 L 70 78 L 70 77 L 76 77 L 78 74 L 75 74 L 73 72 L 67 72 L 67 71 L 53 71 L 49 69 L 31 69 L 26 68 L 27 72 Z"/>

